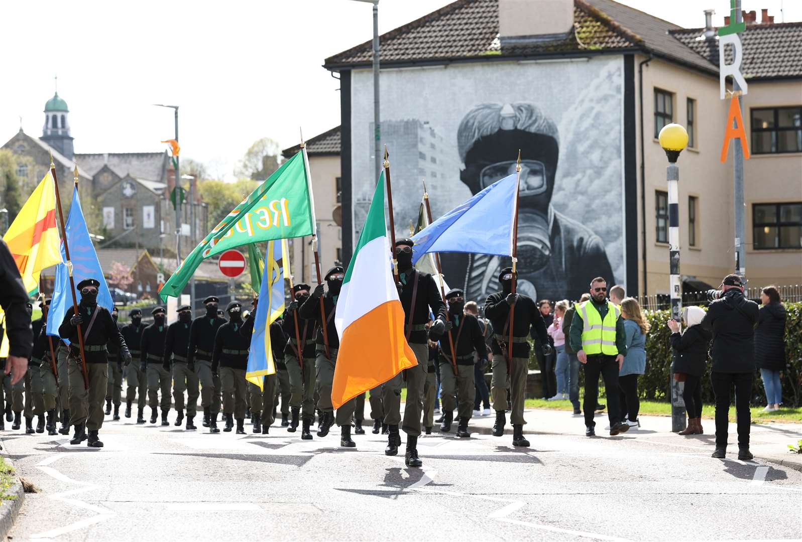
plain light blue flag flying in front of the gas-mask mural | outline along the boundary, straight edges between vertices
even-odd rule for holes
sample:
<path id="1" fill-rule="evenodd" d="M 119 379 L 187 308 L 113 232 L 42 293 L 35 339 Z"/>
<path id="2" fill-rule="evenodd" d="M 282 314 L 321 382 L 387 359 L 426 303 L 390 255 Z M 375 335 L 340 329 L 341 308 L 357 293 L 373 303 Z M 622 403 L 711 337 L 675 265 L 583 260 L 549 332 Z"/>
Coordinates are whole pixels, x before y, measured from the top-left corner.
<path id="1" fill-rule="evenodd" d="M 497 180 L 412 236 L 412 263 L 426 253 L 512 256 L 516 174 Z"/>

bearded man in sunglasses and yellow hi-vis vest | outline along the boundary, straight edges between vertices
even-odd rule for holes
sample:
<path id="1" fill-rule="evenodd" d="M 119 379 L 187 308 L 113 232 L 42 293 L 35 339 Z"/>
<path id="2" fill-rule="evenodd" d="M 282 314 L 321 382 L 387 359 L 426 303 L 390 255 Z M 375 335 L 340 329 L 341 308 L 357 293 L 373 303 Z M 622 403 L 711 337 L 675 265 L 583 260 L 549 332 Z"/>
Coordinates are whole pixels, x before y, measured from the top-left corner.
<path id="1" fill-rule="evenodd" d="M 585 435 L 596 435 L 593 413 L 598 399 L 599 375 L 607 390 L 607 416 L 610 436 L 630 429 L 619 419 L 618 371 L 626 355 L 626 336 L 621 309 L 607 299 L 607 281 L 602 277 L 590 282 L 590 301 L 577 305 L 569 332 L 571 348 L 585 366 Z"/>

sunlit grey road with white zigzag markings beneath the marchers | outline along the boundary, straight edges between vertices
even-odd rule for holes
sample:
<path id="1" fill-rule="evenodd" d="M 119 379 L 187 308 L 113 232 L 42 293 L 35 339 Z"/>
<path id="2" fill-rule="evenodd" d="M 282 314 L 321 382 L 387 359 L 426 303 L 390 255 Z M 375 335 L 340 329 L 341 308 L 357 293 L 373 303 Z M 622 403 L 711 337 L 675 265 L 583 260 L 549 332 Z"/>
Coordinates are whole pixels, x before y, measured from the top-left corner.
<path id="1" fill-rule="evenodd" d="M 146 415 L 148 412 L 146 411 Z M 0 435 L 26 495 L 18 540 L 784 540 L 802 537 L 802 472 L 764 459 L 711 459 L 713 435 L 667 432 L 670 419 L 586 438 L 581 417 L 527 411 L 532 446 L 511 427 L 470 439 L 419 439 L 422 469 L 387 457 L 386 436 L 338 431 L 302 441 L 210 435 L 133 419 L 104 423 L 103 449 L 59 435 Z M 171 413 L 170 419 L 174 419 Z M 707 431 L 712 424 L 707 423 Z M 249 427 L 246 424 L 246 427 Z M 752 426 L 752 447 L 788 459 L 802 426 Z M 403 436 L 406 440 L 406 437 Z M 402 447 L 403 452 L 403 447 Z M 788 454 L 790 455 L 790 454 Z"/>

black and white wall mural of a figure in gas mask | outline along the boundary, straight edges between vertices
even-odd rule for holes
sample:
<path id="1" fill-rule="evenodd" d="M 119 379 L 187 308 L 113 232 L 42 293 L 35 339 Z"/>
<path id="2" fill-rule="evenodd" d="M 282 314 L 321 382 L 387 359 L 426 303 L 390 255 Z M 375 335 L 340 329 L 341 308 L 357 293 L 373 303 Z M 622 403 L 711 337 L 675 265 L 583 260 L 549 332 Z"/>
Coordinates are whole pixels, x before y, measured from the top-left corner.
<path id="1" fill-rule="evenodd" d="M 423 180 L 437 218 L 514 172 L 520 149 L 520 291 L 577 299 L 593 277 L 623 284 L 622 71 L 621 58 L 382 71 L 396 235 L 417 220 Z M 351 88 L 355 241 L 378 177 L 371 71 L 354 71 Z M 510 265 L 478 254 L 442 261 L 448 284 L 480 304 Z"/>

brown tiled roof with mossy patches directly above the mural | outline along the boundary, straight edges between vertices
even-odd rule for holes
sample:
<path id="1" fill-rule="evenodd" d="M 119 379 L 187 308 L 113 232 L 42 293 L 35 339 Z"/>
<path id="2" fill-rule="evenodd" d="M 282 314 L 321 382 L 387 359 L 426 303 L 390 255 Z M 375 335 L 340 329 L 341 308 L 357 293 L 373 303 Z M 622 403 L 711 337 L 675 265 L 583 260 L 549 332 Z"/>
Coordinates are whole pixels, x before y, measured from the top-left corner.
<path id="1" fill-rule="evenodd" d="M 457 0 L 380 37 L 381 61 L 438 63 L 461 59 L 588 54 L 648 49 L 655 55 L 715 72 L 706 59 L 668 32 L 680 27 L 613 0 L 574 0 L 574 34 L 559 42 L 500 46 L 498 0 Z M 372 43 L 326 59 L 329 69 L 368 66 Z"/>

